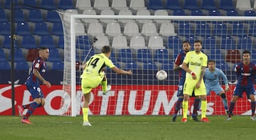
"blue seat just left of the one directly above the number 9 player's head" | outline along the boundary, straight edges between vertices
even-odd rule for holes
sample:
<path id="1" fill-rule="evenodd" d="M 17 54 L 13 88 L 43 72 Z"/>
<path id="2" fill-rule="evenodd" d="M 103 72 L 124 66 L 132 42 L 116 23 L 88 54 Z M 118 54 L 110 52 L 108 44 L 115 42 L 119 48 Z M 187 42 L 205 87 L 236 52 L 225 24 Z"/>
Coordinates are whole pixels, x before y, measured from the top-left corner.
<path id="1" fill-rule="evenodd" d="M 21 41 L 21 48 L 37 48 L 38 46 L 36 45 L 36 39 L 32 35 L 28 36 L 23 36 L 22 41 Z"/>

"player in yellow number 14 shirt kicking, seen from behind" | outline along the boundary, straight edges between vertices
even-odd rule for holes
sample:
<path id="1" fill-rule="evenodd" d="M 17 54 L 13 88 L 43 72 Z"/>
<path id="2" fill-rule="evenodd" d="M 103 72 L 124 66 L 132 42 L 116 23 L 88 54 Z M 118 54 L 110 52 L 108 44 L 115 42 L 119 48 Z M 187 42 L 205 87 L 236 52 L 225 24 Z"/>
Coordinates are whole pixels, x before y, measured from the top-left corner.
<path id="1" fill-rule="evenodd" d="M 117 68 L 110 60 L 111 48 L 108 45 L 103 46 L 102 53 L 92 55 L 90 60 L 82 66 L 83 72 L 80 76 L 82 78 L 81 87 L 82 93 L 85 97 L 85 102 L 82 106 L 83 123 L 82 126 L 92 126 L 88 121 L 90 91 L 92 88 L 102 84 L 103 94 L 107 94 L 110 87 L 107 87 L 107 78 L 105 77 L 105 67 L 109 67 L 117 74 L 132 75 L 132 71 L 121 70 Z"/>

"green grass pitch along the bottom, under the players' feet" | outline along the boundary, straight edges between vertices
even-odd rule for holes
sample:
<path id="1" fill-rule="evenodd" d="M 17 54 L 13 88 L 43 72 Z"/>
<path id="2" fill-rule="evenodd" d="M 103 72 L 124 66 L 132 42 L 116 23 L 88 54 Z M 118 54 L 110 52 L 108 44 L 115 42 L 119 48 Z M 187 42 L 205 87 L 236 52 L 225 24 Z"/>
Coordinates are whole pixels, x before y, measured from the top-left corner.
<path id="1" fill-rule="evenodd" d="M 21 124 L 20 117 L 0 116 L 1 139 L 83 140 L 169 140 L 169 139 L 255 139 L 250 116 L 209 116 L 210 123 L 181 123 L 181 116 L 89 116 L 92 126 L 82 126 L 82 116 L 32 116 L 33 124 Z"/>

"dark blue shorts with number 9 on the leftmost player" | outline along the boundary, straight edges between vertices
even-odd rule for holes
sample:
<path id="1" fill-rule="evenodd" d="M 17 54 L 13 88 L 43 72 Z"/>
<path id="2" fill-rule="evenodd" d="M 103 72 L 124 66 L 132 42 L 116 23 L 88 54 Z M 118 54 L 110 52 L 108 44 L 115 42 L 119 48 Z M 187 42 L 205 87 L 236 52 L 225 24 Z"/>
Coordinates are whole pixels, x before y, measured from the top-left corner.
<path id="1" fill-rule="evenodd" d="M 26 82 L 26 87 L 27 87 L 28 91 L 31 93 L 31 96 L 33 99 L 44 98 L 43 92 L 41 90 L 39 83 L 31 82 L 30 80 L 28 80 Z"/>

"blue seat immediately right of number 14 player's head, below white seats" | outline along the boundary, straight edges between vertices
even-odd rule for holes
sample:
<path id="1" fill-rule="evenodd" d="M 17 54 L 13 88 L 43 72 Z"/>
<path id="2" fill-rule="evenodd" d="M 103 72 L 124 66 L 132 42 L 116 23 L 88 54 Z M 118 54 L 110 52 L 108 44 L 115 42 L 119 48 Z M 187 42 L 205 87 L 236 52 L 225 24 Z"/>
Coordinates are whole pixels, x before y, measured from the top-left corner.
<path id="1" fill-rule="evenodd" d="M 118 60 L 123 63 L 132 63 L 132 50 L 129 48 L 122 48 L 119 50 Z"/>

